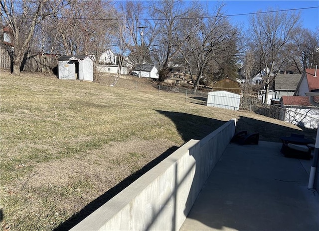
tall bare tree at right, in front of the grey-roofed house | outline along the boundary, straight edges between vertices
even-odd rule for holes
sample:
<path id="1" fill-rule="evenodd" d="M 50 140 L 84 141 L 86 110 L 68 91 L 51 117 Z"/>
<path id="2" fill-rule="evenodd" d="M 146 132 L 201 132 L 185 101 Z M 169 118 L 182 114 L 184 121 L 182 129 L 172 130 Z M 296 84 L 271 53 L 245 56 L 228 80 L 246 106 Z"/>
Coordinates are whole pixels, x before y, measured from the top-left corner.
<path id="1" fill-rule="evenodd" d="M 259 73 L 265 73 L 261 75 L 265 84 L 265 103 L 269 84 L 288 61 L 286 45 L 298 31 L 299 19 L 299 14 L 293 12 L 257 13 L 250 17 L 250 46 L 255 51 Z"/>

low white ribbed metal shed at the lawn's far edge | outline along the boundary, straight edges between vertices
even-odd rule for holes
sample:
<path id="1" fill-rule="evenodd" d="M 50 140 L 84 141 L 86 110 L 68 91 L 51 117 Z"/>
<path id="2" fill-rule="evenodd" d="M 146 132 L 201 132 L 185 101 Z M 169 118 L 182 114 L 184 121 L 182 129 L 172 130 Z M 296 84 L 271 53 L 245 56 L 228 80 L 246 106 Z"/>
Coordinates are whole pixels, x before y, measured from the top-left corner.
<path id="1" fill-rule="evenodd" d="M 208 92 L 207 106 L 220 107 L 230 110 L 239 110 L 240 95 L 228 91 Z"/>

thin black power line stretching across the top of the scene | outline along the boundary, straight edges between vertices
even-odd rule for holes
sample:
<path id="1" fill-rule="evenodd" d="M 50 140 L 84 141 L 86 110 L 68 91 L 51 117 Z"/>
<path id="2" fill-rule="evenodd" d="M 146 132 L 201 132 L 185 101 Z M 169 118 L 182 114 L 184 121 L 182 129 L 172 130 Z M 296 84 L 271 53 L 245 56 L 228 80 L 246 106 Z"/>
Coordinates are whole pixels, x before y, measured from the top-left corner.
<path id="1" fill-rule="evenodd" d="M 215 18 L 215 17 L 234 17 L 234 16 L 245 16 L 245 15 L 253 15 L 253 14 L 275 13 L 275 12 L 294 11 L 294 10 L 303 10 L 303 9 L 315 9 L 315 8 L 319 8 L 319 6 L 305 7 L 305 8 L 294 8 L 294 9 L 269 10 L 269 11 L 262 11 L 262 12 L 253 12 L 253 13 L 217 15 L 217 16 L 182 17 L 182 18 L 175 18 L 174 20 L 198 19 L 198 18 L 203 19 L 203 18 Z M 17 14 L 19 14 L 19 13 L 17 13 Z M 22 13 L 20 13 L 20 14 L 22 14 Z M 32 14 L 30 14 L 30 15 L 32 15 Z M 41 16 L 41 15 L 39 15 L 39 16 Z M 67 16 L 49 16 L 49 17 L 57 17 L 57 18 L 61 18 L 61 19 L 81 19 L 81 20 L 99 20 L 99 21 L 147 21 L 147 20 L 162 21 L 162 20 L 167 20 L 166 18 L 122 19 L 122 18 L 87 18 L 87 17 L 67 17 Z"/>

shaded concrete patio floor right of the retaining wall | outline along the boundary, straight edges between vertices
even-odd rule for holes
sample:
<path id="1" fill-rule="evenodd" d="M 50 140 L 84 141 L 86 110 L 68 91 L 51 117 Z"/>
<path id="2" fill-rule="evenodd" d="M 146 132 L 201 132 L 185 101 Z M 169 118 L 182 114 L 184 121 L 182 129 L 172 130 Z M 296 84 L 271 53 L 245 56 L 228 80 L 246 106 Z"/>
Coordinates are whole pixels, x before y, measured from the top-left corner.
<path id="1" fill-rule="evenodd" d="M 319 231 L 313 159 L 286 158 L 280 148 L 229 144 L 180 231 Z"/>

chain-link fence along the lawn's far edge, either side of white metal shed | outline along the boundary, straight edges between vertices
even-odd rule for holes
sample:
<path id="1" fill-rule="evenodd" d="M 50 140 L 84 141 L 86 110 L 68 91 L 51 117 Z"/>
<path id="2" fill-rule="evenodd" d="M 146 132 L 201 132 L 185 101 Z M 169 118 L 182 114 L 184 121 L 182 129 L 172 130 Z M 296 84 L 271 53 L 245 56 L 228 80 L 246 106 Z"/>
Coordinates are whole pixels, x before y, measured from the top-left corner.
<path id="1" fill-rule="evenodd" d="M 113 85 L 114 87 L 125 88 L 136 92 L 145 92 L 148 94 L 157 95 L 159 97 L 169 97 L 177 101 L 185 101 L 200 105 L 207 105 L 208 92 L 212 89 L 197 90 L 195 94 L 191 88 L 182 87 L 180 85 L 159 85 L 157 81 L 145 78 L 120 77 L 115 81 L 115 77 L 101 75 L 96 80 L 99 83 Z M 150 84 L 151 82 L 151 84 Z M 255 95 L 248 95 L 241 98 L 240 110 L 248 110 L 256 114 L 264 115 L 270 118 L 288 121 L 293 124 L 304 126 L 305 119 L 309 120 L 306 123 L 316 127 L 318 125 L 317 116 L 309 116 L 302 110 L 291 108 L 281 108 L 279 106 L 261 103 L 256 99 Z M 292 116 L 293 115 L 293 116 Z M 285 118 L 286 117 L 286 118 Z"/>

